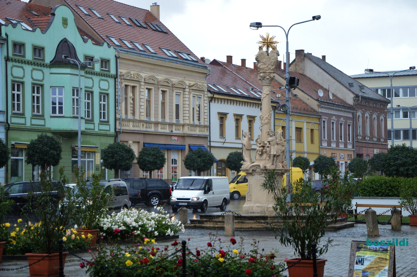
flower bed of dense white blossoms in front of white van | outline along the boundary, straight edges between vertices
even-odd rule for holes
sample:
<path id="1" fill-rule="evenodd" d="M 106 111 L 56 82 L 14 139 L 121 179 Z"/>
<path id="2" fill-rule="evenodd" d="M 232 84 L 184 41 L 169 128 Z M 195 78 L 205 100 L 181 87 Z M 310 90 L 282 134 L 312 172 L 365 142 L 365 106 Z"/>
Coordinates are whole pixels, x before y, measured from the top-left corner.
<path id="1" fill-rule="evenodd" d="M 141 209 L 122 209 L 118 214 L 112 213 L 100 220 L 100 231 L 103 236 L 117 235 L 122 239 L 144 237 L 165 237 L 184 232 L 184 226 L 178 220 L 170 219 L 163 208 L 157 212 Z"/>

